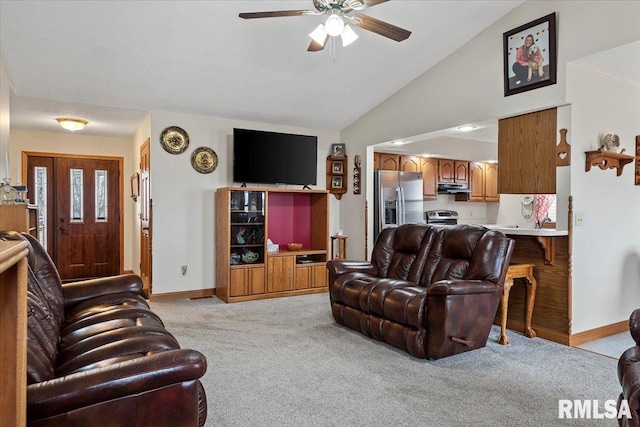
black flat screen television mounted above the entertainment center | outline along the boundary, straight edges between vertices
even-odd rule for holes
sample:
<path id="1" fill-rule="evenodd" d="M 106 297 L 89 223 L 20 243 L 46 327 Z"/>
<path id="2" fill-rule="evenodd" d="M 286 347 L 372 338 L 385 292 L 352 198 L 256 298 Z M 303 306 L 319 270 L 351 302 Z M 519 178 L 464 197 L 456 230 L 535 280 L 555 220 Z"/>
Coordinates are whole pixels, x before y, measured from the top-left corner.
<path id="1" fill-rule="evenodd" d="M 233 129 L 233 181 L 315 185 L 318 137 Z"/>

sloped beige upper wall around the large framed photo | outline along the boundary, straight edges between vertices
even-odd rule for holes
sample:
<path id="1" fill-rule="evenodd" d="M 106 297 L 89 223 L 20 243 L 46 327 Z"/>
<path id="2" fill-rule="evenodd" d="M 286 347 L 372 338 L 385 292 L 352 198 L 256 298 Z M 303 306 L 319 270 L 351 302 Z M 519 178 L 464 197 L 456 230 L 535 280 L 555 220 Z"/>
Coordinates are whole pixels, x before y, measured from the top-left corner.
<path id="1" fill-rule="evenodd" d="M 504 97 L 502 34 L 552 12 L 557 14 L 557 84 Z M 605 16 L 615 22 L 614 31 L 603 25 Z M 527 1 L 344 129 L 341 140 L 351 155 L 367 161 L 365 147 L 371 144 L 565 105 L 567 63 L 640 39 L 638 16 L 637 1 Z M 473 72 L 469 64 L 476 65 Z M 367 169 L 363 188 L 370 206 L 372 186 L 366 177 L 371 171 Z M 352 215 L 364 204 L 362 199 L 346 194 L 341 201 L 340 228 L 350 236 L 349 257 L 361 258 L 364 252 L 365 225 Z M 370 224 L 372 220 L 370 209 Z M 371 242 L 368 247 L 373 247 Z"/>

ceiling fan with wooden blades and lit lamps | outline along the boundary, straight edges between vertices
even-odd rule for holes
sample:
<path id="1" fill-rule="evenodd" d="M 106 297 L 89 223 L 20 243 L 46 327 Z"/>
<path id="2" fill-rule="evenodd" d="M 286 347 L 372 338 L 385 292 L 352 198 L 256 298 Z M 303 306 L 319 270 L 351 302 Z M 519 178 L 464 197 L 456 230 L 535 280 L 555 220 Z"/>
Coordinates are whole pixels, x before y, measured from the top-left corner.
<path id="1" fill-rule="evenodd" d="M 360 11 L 387 1 L 389 0 L 313 0 L 316 10 L 249 12 L 241 13 L 239 16 L 244 19 L 255 19 L 281 16 L 329 15 L 324 24 L 318 25 L 309 34 L 312 41 L 307 51 L 317 52 L 324 49 L 329 37 L 340 36 L 343 46 L 353 43 L 358 38 L 358 35 L 348 24 L 380 34 L 397 42 L 407 39 L 411 35 L 411 31 L 407 31 L 404 28 L 396 27 L 388 22 L 380 21 L 362 13 L 350 15 L 351 12 Z M 345 21 L 347 21 L 347 24 L 345 24 Z"/>

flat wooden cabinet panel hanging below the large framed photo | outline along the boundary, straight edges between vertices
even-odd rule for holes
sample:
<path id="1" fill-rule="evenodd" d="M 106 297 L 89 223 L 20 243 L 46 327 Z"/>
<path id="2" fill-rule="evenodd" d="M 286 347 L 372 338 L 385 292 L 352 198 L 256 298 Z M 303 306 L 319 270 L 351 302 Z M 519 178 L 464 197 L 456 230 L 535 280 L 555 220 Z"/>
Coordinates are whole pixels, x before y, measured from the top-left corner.
<path id="1" fill-rule="evenodd" d="M 557 109 L 498 121 L 498 192 L 555 194 Z"/>

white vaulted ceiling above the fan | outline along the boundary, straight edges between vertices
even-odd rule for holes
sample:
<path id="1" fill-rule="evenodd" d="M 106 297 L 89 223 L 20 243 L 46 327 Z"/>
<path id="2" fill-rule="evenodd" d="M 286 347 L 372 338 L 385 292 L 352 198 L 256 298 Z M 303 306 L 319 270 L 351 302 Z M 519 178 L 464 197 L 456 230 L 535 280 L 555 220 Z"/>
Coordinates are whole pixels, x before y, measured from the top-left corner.
<path id="1" fill-rule="evenodd" d="M 314 9 L 291 1 L 0 1 L 11 126 L 131 137 L 148 111 L 341 130 L 523 0 L 391 0 L 362 11 L 412 32 L 354 28 L 350 46 L 307 52 L 326 17 L 244 20 Z"/>

